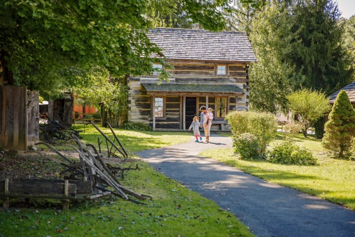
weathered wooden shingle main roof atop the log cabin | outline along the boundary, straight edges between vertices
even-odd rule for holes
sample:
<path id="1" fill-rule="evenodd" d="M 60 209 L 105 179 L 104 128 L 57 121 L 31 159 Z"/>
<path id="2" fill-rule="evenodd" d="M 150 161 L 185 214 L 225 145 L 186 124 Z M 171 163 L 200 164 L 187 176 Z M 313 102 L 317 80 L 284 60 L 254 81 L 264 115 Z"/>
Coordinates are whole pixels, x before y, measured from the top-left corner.
<path id="1" fill-rule="evenodd" d="M 148 36 L 168 59 L 256 61 L 245 32 L 155 28 Z"/>

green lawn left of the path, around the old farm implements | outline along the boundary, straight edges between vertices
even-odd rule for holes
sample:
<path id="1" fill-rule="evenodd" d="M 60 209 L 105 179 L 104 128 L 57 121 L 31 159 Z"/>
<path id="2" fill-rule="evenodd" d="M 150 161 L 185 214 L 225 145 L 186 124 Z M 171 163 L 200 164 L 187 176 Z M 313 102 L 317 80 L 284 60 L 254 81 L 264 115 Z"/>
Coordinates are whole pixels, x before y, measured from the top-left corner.
<path id="1" fill-rule="evenodd" d="M 130 151 L 192 138 L 183 132 L 117 129 L 117 133 Z M 86 131 L 84 141 L 96 141 L 94 130 Z M 253 236 L 234 215 L 220 209 L 215 202 L 156 172 L 149 164 L 139 163 L 141 171 L 126 173 L 122 183 L 153 196 L 152 201 L 144 201 L 146 205 L 111 198 L 76 205 L 67 213 L 58 213 L 53 208 L 0 211 L 0 236 Z"/>

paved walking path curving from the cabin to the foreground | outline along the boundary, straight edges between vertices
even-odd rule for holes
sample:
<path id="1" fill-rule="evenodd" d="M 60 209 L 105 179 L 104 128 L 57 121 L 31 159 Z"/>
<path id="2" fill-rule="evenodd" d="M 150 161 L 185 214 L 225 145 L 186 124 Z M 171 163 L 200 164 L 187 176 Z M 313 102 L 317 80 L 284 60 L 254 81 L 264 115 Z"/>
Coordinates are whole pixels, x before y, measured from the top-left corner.
<path id="1" fill-rule="evenodd" d="M 256 235 L 355 236 L 355 212 L 197 156 L 206 149 L 232 145 L 225 137 L 210 141 L 190 141 L 137 154 L 159 172 L 234 213 Z"/>

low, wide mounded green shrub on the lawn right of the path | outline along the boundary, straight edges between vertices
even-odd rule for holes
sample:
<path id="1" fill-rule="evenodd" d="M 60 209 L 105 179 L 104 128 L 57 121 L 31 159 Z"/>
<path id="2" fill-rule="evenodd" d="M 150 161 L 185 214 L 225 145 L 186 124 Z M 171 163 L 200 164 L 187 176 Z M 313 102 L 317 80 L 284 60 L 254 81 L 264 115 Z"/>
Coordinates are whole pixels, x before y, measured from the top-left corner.
<path id="1" fill-rule="evenodd" d="M 267 160 L 278 164 L 315 165 L 316 159 L 306 148 L 295 145 L 292 141 L 283 141 L 269 152 Z"/>

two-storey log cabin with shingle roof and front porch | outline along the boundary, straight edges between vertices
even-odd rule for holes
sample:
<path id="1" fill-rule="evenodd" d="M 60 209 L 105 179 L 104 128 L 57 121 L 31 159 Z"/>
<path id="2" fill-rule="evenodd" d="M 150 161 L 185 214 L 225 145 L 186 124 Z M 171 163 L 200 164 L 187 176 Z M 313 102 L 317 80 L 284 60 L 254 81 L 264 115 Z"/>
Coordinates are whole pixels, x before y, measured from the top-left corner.
<path id="1" fill-rule="evenodd" d="M 224 117 L 248 110 L 248 65 L 256 57 L 245 32 L 155 28 L 149 38 L 172 65 L 169 82 L 158 83 L 158 73 L 130 75 L 128 121 L 187 130 L 206 106 L 214 110 L 211 130 L 229 130 Z"/>

